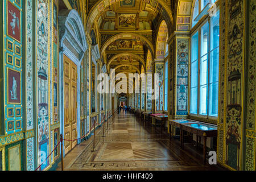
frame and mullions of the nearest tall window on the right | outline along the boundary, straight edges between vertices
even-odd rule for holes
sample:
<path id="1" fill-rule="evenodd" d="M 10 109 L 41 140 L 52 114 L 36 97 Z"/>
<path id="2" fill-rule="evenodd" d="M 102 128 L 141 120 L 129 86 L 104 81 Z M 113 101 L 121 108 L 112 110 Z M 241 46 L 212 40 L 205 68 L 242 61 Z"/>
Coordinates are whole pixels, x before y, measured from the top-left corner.
<path id="1" fill-rule="evenodd" d="M 201 6 L 201 1 L 202 0 L 199 0 L 199 6 Z M 210 0 L 210 2 L 213 2 L 213 0 Z M 216 1 L 218 2 L 218 1 Z M 216 3 L 215 2 L 215 3 Z M 218 13 L 218 11 L 220 11 L 220 6 L 218 6 L 218 3 L 216 3 L 217 5 L 217 10 L 216 10 L 216 13 Z M 212 7 L 210 7 L 210 9 L 212 9 Z M 199 9 L 199 14 L 201 13 L 201 10 Z M 192 13 L 193 14 L 193 13 Z M 194 17 L 193 17 L 194 18 Z M 192 18 L 192 21 L 193 21 L 193 18 Z M 209 27 L 208 27 L 208 32 L 209 32 L 209 35 L 208 35 L 208 53 L 207 53 L 207 56 L 208 56 L 208 63 L 207 63 L 207 66 L 208 66 L 208 72 L 207 72 L 207 75 L 208 75 L 208 78 L 207 78 L 207 114 L 204 115 L 204 114 L 200 114 L 200 78 L 201 78 L 201 57 L 204 57 L 204 56 L 201 56 L 201 28 L 203 26 L 205 26 L 205 24 L 208 22 L 209 24 Z M 192 22 L 191 22 L 192 24 Z M 191 115 L 192 117 L 196 117 L 196 118 L 203 118 L 203 119 L 212 119 L 214 121 L 216 121 L 218 119 L 218 113 L 217 113 L 217 116 L 213 116 L 213 115 L 209 115 L 209 98 L 210 98 L 210 63 L 211 63 L 211 59 L 212 57 L 210 56 L 211 52 L 213 50 L 215 50 L 217 47 L 211 49 L 211 43 L 212 43 L 212 17 L 209 16 L 209 14 L 207 15 L 207 17 L 203 17 L 201 18 L 196 24 L 195 26 L 193 26 L 192 30 L 191 30 L 191 38 L 189 39 L 190 41 L 190 44 L 192 45 L 192 36 L 194 36 L 196 33 L 198 32 L 198 78 L 197 78 L 197 114 L 193 114 L 191 113 L 191 75 L 192 75 L 192 67 L 191 67 L 191 61 L 192 61 L 192 46 L 191 46 L 191 59 L 189 60 L 189 111 L 188 111 L 188 115 Z M 221 33 L 221 32 L 220 32 Z M 218 48 L 220 48 L 220 44 L 218 45 Z M 220 49 L 219 49 L 220 51 Z M 218 56 L 218 61 L 220 62 L 220 55 Z M 218 71 L 219 72 L 219 71 Z M 218 73 L 219 75 L 219 73 Z M 219 84 L 219 79 L 218 79 L 218 84 Z M 219 99 L 219 98 L 218 98 Z"/>

